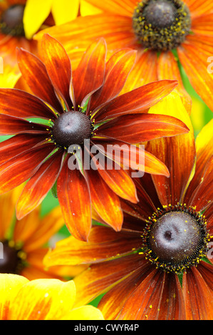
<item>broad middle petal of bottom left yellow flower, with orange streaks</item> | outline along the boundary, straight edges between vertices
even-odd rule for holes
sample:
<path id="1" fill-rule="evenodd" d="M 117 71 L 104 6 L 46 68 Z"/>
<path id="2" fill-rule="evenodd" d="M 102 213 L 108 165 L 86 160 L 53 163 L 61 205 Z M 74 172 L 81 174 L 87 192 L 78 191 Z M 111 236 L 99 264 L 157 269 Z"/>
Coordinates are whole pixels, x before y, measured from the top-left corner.
<path id="1" fill-rule="evenodd" d="M 73 281 L 35 279 L 19 290 L 9 313 L 11 320 L 61 319 L 76 299 Z"/>

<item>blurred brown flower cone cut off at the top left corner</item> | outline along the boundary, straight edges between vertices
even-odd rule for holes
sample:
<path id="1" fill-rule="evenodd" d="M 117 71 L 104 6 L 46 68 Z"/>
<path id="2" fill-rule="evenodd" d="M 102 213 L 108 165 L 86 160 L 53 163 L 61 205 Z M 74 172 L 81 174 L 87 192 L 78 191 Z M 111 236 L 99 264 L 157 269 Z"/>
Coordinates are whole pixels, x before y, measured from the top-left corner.
<path id="1" fill-rule="evenodd" d="M 11 36 L 25 36 L 23 24 L 24 7 L 24 5 L 17 4 L 4 11 L 0 21 L 1 33 Z"/>

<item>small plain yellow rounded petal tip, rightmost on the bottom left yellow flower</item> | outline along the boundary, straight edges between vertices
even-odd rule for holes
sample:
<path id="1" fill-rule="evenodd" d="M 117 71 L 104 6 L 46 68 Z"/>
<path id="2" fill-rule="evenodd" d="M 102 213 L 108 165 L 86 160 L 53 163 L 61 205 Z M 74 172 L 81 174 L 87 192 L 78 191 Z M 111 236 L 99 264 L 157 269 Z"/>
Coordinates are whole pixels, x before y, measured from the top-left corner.
<path id="1" fill-rule="evenodd" d="M 104 320 L 104 317 L 100 309 L 87 305 L 73 309 L 62 320 Z"/>

